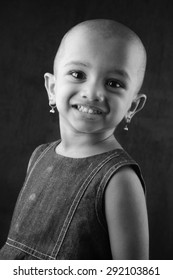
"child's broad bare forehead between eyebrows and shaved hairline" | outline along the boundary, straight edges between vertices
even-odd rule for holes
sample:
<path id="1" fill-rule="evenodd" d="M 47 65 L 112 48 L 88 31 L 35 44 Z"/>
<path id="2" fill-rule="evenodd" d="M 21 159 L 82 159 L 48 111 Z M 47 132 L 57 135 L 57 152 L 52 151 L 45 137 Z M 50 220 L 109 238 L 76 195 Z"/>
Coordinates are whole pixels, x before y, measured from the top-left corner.
<path id="1" fill-rule="evenodd" d="M 66 36 L 57 55 L 60 61 L 93 59 L 107 64 L 140 61 L 141 53 L 135 40 L 118 34 L 107 35 L 87 28 L 78 28 Z M 134 64 L 136 67 L 136 64 Z"/>

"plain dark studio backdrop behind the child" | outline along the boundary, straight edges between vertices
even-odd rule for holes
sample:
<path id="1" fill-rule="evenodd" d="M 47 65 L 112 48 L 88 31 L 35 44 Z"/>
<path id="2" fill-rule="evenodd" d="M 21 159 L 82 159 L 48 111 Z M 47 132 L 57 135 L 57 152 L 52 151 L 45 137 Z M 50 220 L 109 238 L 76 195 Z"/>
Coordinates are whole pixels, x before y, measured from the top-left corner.
<path id="1" fill-rule="evenodd" d="M 110 18 L 132 28 L 148 53 L 145 109 L 124 148 L 147 185 L 150 258 L 173 259 L 173 4 L 172 1 L 4 1 L 0 7 L 0 245 L 34 148 L 59 137 L 49 114 L 43 75 L 52 72 L 61 37 L 73 25 Z"/>

